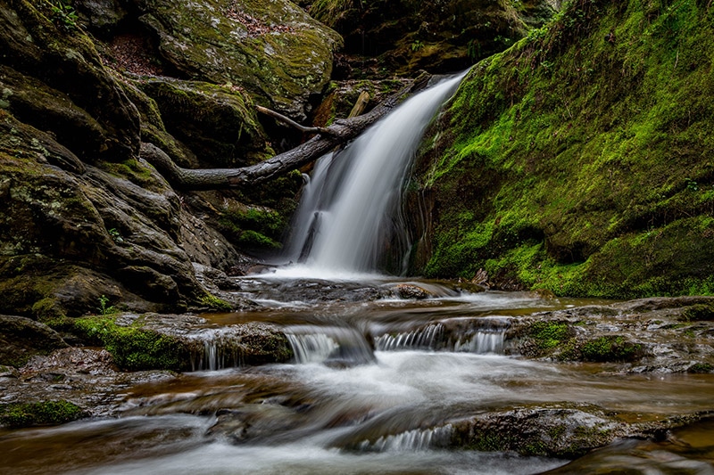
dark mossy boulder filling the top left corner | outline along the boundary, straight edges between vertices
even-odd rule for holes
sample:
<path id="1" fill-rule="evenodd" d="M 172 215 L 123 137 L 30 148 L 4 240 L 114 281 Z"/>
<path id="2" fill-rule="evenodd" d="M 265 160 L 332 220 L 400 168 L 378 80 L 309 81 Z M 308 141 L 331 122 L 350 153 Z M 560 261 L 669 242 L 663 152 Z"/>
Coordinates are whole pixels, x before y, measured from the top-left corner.
<path id="1" fill-rule="evenodd" d="M 82 159 L 124 160 L 137 152 L 137 109 L 66 13 L 58 17 L 46 1 L 0 5 L 0 51 L 2 109 L 52 131 Z"/>

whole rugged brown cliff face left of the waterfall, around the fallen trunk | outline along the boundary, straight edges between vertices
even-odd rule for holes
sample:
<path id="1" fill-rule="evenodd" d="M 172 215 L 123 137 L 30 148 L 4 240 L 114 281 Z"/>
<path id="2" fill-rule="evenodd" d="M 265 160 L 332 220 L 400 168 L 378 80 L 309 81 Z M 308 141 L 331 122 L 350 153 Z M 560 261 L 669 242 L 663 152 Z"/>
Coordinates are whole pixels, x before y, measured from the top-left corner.
<path id="1" fill-rule="evenodd" d="M 275 246 L 283 217 L 251 203 L 289 212 L 300 176 L 177 192 L 139 145 L 185 167 L 272 155 L 253 101 L 303 116 L 340 41 L 278 0 L 0 3 L 0 313 L 82 315 L 102 296 L 137 311 L 212 302 L 195 264 L 243 266 L 226 236 Z"/>

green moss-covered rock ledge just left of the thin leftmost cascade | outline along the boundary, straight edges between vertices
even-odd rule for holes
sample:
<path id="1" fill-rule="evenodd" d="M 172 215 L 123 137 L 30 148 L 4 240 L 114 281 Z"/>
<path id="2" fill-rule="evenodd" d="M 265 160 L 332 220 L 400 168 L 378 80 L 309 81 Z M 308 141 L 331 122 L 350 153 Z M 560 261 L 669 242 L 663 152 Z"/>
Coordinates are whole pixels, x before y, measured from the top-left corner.
<path id="1" fill-rule="evenodd" d="M 190 361 L 190 348 L 176 337 L 141 327 L 120 326 L 113 316 L 87 316 L 74 320 L 73 332 L 112 354 L 123 369 L 183 370 Z"/>

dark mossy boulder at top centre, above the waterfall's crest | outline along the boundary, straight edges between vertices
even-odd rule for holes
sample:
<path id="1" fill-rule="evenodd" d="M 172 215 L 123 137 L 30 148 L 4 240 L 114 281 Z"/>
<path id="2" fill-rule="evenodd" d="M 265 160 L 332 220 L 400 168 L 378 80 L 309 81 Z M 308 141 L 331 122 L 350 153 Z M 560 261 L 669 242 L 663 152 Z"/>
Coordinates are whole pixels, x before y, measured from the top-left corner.
<path id="1" fill-rule="evenodd" d="M 370 64 L 378 73 L 409 74 L 463 70 L 541 27 L 555 6 L 544 0 L 314 0 L 310 13 L 345 37 L 345 53 L 378 57 Z M 364 72 L 362 61 L 353 61 L 353 76 Z"/>

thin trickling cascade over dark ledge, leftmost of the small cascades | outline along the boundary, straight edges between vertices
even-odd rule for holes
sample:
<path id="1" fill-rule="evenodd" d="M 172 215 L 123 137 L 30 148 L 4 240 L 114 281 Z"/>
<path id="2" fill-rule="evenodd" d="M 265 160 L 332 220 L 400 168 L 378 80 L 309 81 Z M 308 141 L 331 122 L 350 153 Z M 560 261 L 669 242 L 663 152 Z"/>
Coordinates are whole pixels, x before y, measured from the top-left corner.
<path id="1" fill-rule="evenodd" d="M 240 335 L 220 330 L 205 330 L 191 337 L 192 371 L 217 371 L 242 365 L 243 350 Z"/>

